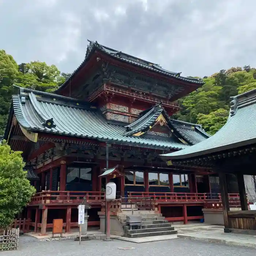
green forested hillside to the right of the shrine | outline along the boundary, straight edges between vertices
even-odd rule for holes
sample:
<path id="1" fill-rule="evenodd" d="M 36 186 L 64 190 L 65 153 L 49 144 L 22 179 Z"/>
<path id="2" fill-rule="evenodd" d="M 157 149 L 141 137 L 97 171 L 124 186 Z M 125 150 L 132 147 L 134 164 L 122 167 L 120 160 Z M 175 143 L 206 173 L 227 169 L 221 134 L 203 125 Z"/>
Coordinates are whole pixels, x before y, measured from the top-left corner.
<path id="1" fill-rule="evenodd" d="M 249 65 L 222 69 L 203 80 L 201 88 L 178 101 L 181 110 L 174 118 L 202 124 L 212 135 L 227 121 L 230 97 L 256 88 L 256 69 Z"/>

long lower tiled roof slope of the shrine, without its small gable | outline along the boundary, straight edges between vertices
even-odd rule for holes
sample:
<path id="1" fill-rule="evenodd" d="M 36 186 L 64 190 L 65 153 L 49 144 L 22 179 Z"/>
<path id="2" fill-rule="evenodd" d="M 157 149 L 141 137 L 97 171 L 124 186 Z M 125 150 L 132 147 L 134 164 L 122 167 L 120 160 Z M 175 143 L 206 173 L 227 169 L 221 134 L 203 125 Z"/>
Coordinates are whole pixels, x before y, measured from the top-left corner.
<path id="1" fill-rule="evenodd" d="M 64 96 L 20 88 L 19 94 L 12 97 L 12 105 L 19 124 L 32 132 L 167 150 L 188 147 L 175 138 L 125 136 L 124 126 L 109 124 L 94 105 Z"/>

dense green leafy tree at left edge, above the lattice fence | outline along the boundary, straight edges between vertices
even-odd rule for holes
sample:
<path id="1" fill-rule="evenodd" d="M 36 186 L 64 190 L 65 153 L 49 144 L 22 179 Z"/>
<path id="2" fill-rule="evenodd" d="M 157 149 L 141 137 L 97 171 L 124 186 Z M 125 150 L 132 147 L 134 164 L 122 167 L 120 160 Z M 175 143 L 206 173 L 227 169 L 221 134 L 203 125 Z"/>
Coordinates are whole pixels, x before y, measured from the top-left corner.
<path id="1" fill-rule="evenodd" d="M 10 225 L 35 193 L 23 171 L 21 154 L 4 142 L 0 144 L 0 228 Z"/>

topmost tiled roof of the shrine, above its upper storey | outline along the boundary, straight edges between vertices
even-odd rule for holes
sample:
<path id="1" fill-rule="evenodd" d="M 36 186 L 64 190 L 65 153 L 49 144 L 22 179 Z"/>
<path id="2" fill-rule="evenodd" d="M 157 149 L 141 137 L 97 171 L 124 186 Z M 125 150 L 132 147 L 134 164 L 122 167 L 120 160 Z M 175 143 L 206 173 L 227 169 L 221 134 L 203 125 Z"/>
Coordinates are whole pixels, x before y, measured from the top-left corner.
<path id="1" fill-rule="evenodd" d="M 171 72 L 171 71 L 167 71 L 166 69 L 163 69 L 160 65 L 152 63 L 150 61 L 146 61 L 146 60 L 142 60 L 139 59 L 137 57 L 134 57 L 132 55 L 129 55 L 127 53 L 123 53 L 121 51 L 100 45 L 97 41 L 89 41 L 89 45 L 87 46 L 87 50 L 86 50 L 86 56 L 84 58 L 84 61 L 79 65 L 79 67 L 77 69 L 75 69 L 75 71 L 72 73 L 71 75 L 71 79 L 72 76 L 84 65 L 84 63 L 86 63 L 86 61 L 90 58 L 91 54 L 95 51 L 95 50 L 99 50 L 102 51 L 103 53 L 108 54 L 109 56 L 116 58 L 118 60 L 121 61 L 125 61 L 127 63 L 131 63 L 133 65 L 142 67 L 142 68 L 146 68 L 149 69 L 151 71 L 155 71 L 158 72 L 160 74 L 163 75 L 167 75 L 173 78 L 176 78 L 178 80 L 182 80 L 184 82 L 189 82 L 189 83 L 193 83 L 193 84 L 198 84 L 198 85 L 203 85 L 203 79 L 201 78 L 189 78 L 189 77 L 185 77 L 185 76 L 181 76 L 181 72 Z M 68 78 L 63 85 L 61 85 L 56 91 L 60 90 L 61 88 L 65 87 L 66 84 L 68 83 L 68 81 L 70 80 L 70 78 Z"/>

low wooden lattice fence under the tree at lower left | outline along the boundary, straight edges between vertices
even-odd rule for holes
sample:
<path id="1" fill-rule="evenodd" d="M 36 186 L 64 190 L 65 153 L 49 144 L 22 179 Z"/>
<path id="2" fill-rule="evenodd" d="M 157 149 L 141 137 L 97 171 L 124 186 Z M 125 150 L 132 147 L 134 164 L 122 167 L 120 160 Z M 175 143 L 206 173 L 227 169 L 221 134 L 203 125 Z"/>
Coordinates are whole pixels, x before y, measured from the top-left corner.
<path id="1" fill-rule="evenodd" d="M 19 228 L 8 227 L 0 233 L 0 251 L 16 250 L 19 246 Z"/>

